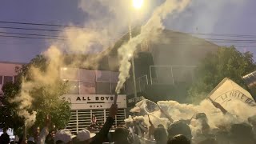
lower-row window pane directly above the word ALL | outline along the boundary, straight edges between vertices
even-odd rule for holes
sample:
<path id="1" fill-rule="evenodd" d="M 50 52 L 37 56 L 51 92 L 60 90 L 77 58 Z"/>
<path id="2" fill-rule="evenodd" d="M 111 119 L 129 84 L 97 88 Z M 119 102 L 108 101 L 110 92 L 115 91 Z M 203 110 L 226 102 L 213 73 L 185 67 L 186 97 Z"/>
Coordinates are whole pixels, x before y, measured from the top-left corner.
<path id="1" fill-rule="evenodd" d="M 80 82 L 80 94 L 96 94 L 95 82 Z"/>

